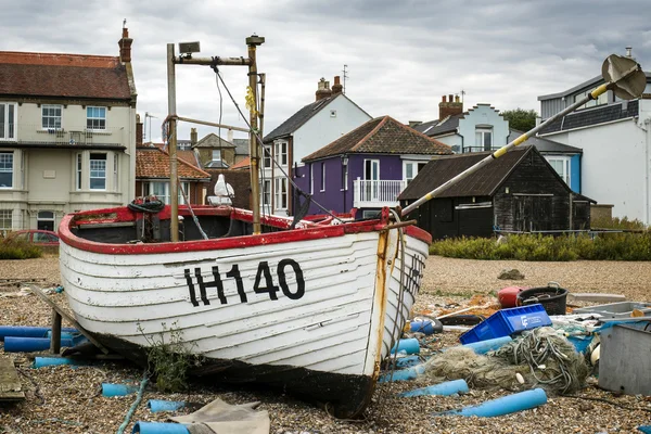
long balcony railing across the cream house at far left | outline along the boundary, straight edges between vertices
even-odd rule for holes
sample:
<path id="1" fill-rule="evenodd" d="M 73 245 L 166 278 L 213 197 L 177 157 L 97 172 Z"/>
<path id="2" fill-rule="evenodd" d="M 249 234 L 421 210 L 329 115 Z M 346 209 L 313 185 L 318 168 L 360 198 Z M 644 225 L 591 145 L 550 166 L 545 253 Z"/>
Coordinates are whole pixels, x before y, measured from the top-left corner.
<path id="1" fill-rule="evenodd" d="M 124 128 L 88 129 L 86 126 L 69 128 L 42 128 L 40 125 L 0 124 L 0 144 L 120 144 L 125 141 Z M 126 145 L 126 143 L 124 143 Z"/>

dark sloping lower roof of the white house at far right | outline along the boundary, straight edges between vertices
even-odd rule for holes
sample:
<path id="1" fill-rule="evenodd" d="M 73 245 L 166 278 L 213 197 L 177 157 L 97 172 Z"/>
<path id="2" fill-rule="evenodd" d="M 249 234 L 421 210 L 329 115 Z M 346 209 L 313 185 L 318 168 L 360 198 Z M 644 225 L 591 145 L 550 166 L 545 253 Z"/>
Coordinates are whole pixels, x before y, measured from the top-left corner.
<path id="1" fill-rule="evenodd" d="M 538 133 L 547 135 L 557 131 L 589 127 L 613 120 L 638 116 L 639 100 L 622 101 L 608 105 L 583 108 L 560 117 L 542 128 Z"/>

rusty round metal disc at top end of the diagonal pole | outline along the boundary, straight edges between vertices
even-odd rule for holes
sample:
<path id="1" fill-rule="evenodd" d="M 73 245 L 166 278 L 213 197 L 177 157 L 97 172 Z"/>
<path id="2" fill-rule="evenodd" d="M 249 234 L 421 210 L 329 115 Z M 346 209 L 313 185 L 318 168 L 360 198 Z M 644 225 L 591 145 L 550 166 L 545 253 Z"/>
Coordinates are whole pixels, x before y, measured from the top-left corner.
<path id="1" fill-rule="evenodd" d="M 642 67 L 633 59 L 617 54 L 611 54 L 603 61 L 601 75 L 607 84 L 612 84 L 609 88 L 623 100 L 639 98 L 647 86 Z"/>

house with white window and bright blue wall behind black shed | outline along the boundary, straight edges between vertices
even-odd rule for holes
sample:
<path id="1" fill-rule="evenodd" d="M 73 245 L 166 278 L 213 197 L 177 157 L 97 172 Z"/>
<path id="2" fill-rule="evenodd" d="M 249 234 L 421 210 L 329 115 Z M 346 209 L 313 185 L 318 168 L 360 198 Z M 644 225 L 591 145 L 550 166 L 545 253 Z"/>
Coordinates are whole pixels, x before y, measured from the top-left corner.
<path id="1" fill-rule="evenodd" d="M 511 129 L 507 140 L 510 143 L 523 133 L 523 131 Z M 537 136 L 526 139 L 525 144 L 536 146 L 540 155 L 547 159 L 572 191 L 582 193 L 580 164 L 583 150 L 580 148 L 570 146 Z"/>

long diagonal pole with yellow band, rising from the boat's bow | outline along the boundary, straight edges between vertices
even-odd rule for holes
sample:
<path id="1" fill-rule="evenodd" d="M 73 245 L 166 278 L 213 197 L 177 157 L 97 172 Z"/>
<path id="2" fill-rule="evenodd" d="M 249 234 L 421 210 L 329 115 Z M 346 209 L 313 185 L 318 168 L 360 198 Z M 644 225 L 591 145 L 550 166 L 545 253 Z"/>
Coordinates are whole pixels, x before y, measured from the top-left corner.
<path id="1" fill-rule="evenodd" d="M 583 98 L 580 101 L 577 101 L 574 104 L 570 105 L 567 108 L 563 110 L 562 112 L 557 113 L 556 115 L 551 116 L 550 118 L 545 120 L 542 124 L 538 125 L 537 127 L 529 129 L 528 131 L 526 131 L 525 133 L 520 136 L 518 139 L 515 139 L 512 142 L 508 143 L 507 145 L 498 149 L 490 155 L 486 156 L 486 158 L 476 163 L 474 166 L 471 166 L 471 167 L 467 168 L 465 170 L 463 170 L 462 173 L 460 173 L 459 175 L 457 175 L 456 177 L 448 179 L 446 182 L 442 183 L 441 186 L 438 186 L 437 188 L 435 188 L 434 190 L 432 190 L 431 192 L 429 192 L 427 194 L 425 194 L 424 196 L 422 196 L 414 203 L 410 204 L 409 206 L 406 206 L 403 209 L 401 216 L 403 217 L 407 216 L 409 213 L 411 213 L 412 210 L 414 210 L 416 208 L 421 206 L 423 203 L 425 203 L 425 202 L 430 201 L 431 199 L 435 197 L 436 195 L 441 194 L 442 192 L 447 190 L 452 184 L 459 182 L 460 180 L 468 177 L 469 175 L 474 174 L 475 171 L 477 171 L 485 165 L 492 163 L 494 159 L 499 158 L 500 156 L 502 156 L 503 154 L 509 152 L 510 149 L 524 143 L 526 141 L 526 139 L 528 139 L 531 136 L 535 135 L 536 132 L 540 131 L 544 127 L 551 124 L 559 117 L 565 116 L 570 112 L 574 112 L 576 108 L 580 107 L 582 105 L 584 105 L 585 103 L 587 103 L 590 100 L 596 100 L 601 93 L 605 92 L 611 85 L 612 85 L 612 82 L 607 82 L 604 85 L 599 86 L 592 92 L 588 93 L 587 97 Z"/>

